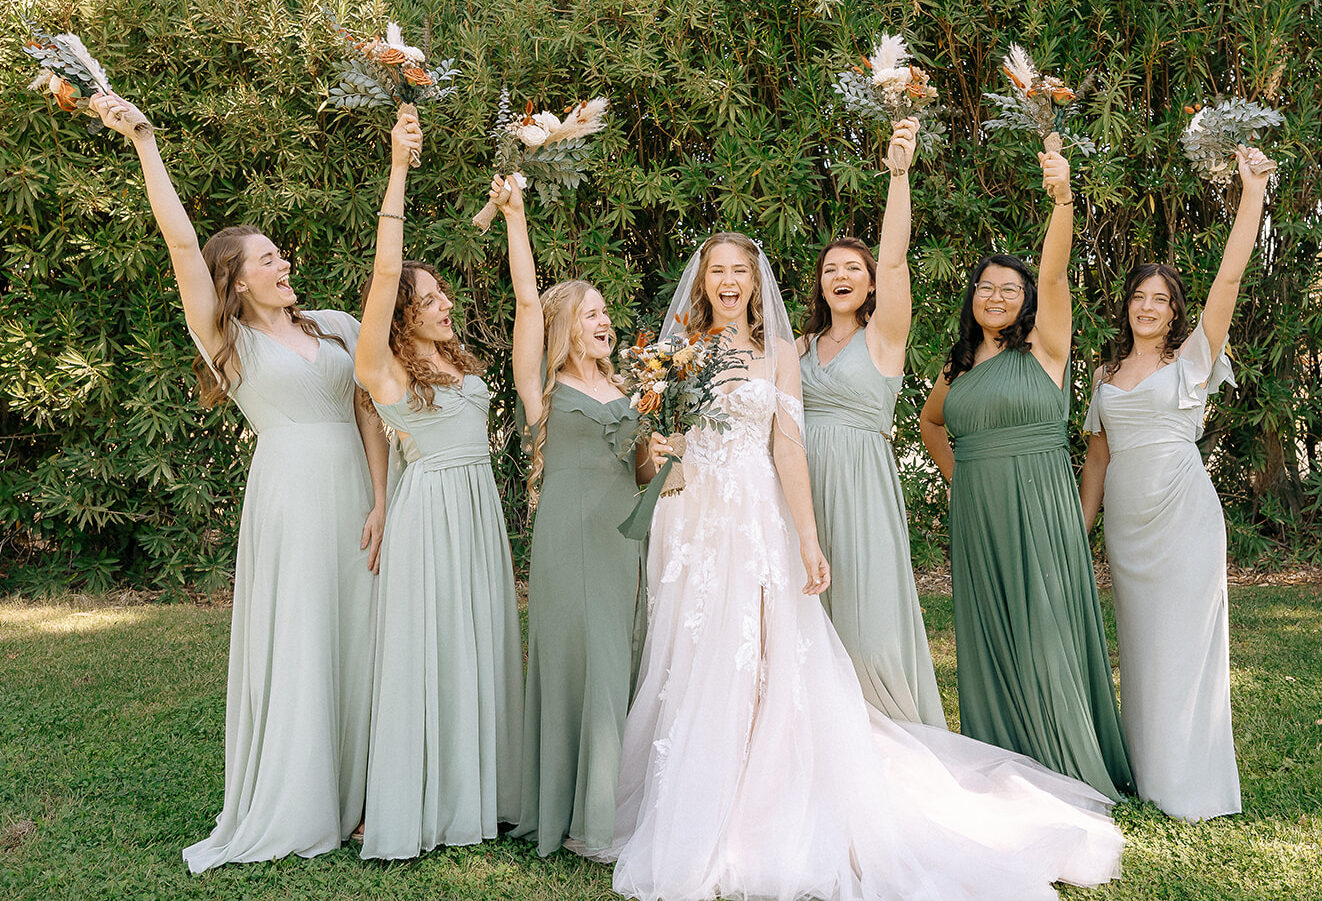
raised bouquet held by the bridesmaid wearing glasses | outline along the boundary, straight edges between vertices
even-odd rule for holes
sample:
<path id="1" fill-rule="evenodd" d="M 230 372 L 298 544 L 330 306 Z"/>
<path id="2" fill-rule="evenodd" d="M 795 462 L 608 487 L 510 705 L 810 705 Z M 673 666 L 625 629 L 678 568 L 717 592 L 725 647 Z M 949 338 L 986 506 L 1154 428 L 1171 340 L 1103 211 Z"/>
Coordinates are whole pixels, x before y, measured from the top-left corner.
<path id="1" fill-rule="evenodd" d="M 1073 135 L 1066 128 L 1066 116 L 1072 112 L 1075 102 L 1085 95 L 1093 85 L 1089 75 L 1073 90 L 1055 75 L 1038 71 L 1023 48 L 1010 45 L 1001 71 L 1010 79 L 1010 94 L 984 94 L 998 110 L 995 119 L 988 119 L 982 127 L 988 131 L 1006 128 L 1010 131 L 1031 131 L 1042 139 L 1047 153 L 1059 153 L 1068 143 L 1084 156 L 1097 152 L 1092 139 Z"/>

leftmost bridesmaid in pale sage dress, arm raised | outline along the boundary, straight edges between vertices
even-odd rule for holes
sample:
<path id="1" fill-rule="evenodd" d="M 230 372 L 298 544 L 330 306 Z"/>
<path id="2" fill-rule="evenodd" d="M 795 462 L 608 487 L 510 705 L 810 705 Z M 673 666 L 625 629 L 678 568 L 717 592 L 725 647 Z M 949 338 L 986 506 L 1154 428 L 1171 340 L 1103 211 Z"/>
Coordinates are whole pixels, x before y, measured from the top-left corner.
<path id="1" fill-rule="evenodd" d="M 386 440 L 354 403 L 358 322 L 300 310 L 288 262 L 251 226 L 198 250 L 156 139 L 132 127 L 141 112 L 114 94 L 91 107 L 137 151 L 201 355 L 202 403 L 231 398 L 258 436 L 234 568 L 225 803 L 184 860 L 200 873 L 324 853 L 362 816 L 385 521 Z"/>

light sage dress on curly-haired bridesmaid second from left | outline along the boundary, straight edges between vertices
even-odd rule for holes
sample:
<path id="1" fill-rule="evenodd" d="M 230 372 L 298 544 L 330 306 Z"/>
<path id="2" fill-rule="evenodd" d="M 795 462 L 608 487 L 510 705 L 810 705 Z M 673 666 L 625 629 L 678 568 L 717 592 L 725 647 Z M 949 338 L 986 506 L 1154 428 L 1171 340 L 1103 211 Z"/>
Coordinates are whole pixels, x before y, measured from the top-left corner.
<path id="1" fill-rule="evenodd" d="M 486 384 L 377 404 L 420 457 L 381 546 L 364 857 L 496 838 L 518 816 L 524 655 Z"/>

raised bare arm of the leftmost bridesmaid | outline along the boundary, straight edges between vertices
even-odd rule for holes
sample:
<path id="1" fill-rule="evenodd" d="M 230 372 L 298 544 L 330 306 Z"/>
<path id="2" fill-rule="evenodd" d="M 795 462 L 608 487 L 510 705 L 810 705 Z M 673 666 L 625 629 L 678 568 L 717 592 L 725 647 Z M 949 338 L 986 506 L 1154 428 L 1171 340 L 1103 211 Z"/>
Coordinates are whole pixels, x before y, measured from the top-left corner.
<path id="1" fill-rule="evenodd" d="M 202 259 L 197 243 L 197 231 L 188 218 L 188 211 L 178 199 L 175 184 L 165 170 L 156 135 L 149 129 L 136 129 L 135 124 L 144 120 L 143 114 L 132 103 L 118 94 L 97 92 L 89 102 L 93 111 L 100 116 L 107 128 L 128 137 L 143 166 L 143 181 L 147 185 L 147 199 L 152 205 L 156 226 L 169 247 L 171 266 L 175 267 L 175 280 L 178 283 L 178 296 L 184 303 L 184 320 L 193 334 L 214 355 L 221 349 L 221 333 L 215 328 L 215 284 Z"/>

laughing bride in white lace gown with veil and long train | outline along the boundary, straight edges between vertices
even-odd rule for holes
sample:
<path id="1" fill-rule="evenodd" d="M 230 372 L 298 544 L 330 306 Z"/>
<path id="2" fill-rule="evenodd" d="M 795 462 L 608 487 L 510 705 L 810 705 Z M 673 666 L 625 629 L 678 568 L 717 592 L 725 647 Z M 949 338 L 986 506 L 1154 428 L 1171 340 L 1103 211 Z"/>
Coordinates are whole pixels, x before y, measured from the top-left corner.
<path id="1" fill-rule="evenodd" d="M 798 359 L 765 255 L 722 233 L 662 333 L 734 326 L 731 428 L 695 429 L 662 498 L 612 856 L 637 898 L 1054 898 L 1118 875 L 1109 801 L 1011 752 L 869 708 L 814 595 L 830 583 Z M 652 452 L 669 448 L 653 436 Z M 797 535 L 798 559 L 795 555 Z"/>

